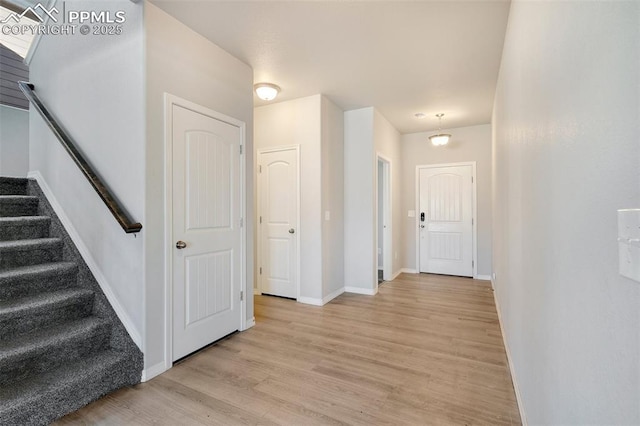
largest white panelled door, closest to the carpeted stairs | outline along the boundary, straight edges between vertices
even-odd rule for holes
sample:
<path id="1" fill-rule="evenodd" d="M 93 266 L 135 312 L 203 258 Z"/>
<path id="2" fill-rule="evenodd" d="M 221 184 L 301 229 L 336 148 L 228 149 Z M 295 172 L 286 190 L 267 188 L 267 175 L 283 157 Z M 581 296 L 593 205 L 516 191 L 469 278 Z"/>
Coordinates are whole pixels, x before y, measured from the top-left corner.
<path id="1" fill-rule="evenodd" d="M 240 328 L 240 129 L 172 105 L 173 360 Z"/>

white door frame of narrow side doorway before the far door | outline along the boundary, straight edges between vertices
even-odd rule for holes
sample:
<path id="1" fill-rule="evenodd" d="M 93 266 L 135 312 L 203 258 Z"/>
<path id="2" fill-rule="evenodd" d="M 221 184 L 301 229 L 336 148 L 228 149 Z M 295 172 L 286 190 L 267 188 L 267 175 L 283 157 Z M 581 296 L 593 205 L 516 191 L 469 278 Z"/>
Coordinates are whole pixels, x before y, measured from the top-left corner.
<path id="1" fill-rule="evenodd" d="M 380 153 L 376 153 L 376 288 L 378 283 L 378 241 L 380 236 L 378 235 L 379 222 L 378 206 L 379 200 L 379 188 L 378 182 L 378 165 L 382 162 L 383 174 L 382 174 L 382 220 L 383 223 L 387 223 L 387 227 L 383 228 L 384 239 L 382 240 L 382 279 L 390 281 L 393 278 L 393 186 L 392 186 L 392 173 L 391 173 L 391 159 L 385 157 Z"/>

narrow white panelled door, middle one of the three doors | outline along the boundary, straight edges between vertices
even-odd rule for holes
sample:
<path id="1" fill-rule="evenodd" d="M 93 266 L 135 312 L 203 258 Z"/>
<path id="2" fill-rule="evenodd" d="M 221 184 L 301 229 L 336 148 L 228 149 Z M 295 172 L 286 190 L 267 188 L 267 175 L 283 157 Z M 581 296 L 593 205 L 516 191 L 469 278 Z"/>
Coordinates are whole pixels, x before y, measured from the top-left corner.
<path id="1" fill-rule="evenodd" d="M 298 151 L 261 152 L 258 164 L 260 291 L 297 299 Z"/>

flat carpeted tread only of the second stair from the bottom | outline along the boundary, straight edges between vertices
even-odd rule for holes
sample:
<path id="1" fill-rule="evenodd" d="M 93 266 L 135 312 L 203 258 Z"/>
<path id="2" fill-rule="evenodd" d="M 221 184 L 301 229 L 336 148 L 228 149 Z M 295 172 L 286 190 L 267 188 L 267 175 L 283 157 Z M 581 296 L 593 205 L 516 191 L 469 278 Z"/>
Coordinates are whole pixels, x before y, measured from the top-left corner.
<path id="1" fill-rule="evenodd" d="M 100 327 L 109 326 L 109 322 L 97 316 L 68 321 L 53 327 L 38 329 L 2 344 L 0 360 L 18 357 L 25 353 L 42 351 L 47 347 L 64 344 L 83 334 L 91 333 Z"/>

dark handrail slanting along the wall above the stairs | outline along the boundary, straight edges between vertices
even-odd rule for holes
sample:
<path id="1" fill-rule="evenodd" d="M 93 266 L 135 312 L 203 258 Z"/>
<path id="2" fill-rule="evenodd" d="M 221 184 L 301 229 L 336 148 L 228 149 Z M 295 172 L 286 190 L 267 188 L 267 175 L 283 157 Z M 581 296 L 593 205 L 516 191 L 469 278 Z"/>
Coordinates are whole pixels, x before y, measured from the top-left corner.
<path id="1" fill-rule="evenodd" d="M 142 229 L 142 225 L 138 222 L 134 222 L 131 219 L 131 216 L 125 211 L 124 207 L 118 203 L 116 198 L 113 196 L 109 188 L 102 182 L 100 177 L 96 174 L 91 167 L 91 164 L 82 156 L 78 148 L 76 148 L 75 143 L 73 143 L 73 139 L 64 131 L 64 129 L 58 124 L 56 119 L 51 115 L 51 113 L 47 110 L 47 108 L 42 104 L 38 95 L 33 91 L 34 86 L 31 83 L 27 83 L 24 81 L 19 81 L 18 86 L 20 86 L 20 90 L 24 93 L 24 95 L 29 99 L 31 104 L 38 110 L 44 121 L 47 123 L 49 128 L 56 135 L 62 146 L 67 150 L 69 155 L 73 161 L 80 167 L 80 170 L 85 175 L 85 177 L 89 180 L 93 189 L 96 190 L 102 201 L 107 205 L 113 217 L 116 218 L 124 232 L 127 234 L 140 232 Z"/>

